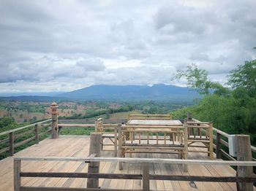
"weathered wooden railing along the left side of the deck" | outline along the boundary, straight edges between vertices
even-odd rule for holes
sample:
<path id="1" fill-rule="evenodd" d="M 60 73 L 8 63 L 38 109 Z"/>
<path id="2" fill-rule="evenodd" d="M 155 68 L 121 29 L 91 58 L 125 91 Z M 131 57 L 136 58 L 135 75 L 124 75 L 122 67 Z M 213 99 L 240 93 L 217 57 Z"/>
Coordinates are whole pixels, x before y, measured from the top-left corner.
<path id="1" fill-rule="evenodd" d="M 0 133 L 0 154 L 9 151 L 9 155 L 12 156 L 16 147 L 20 147 L 32 140 L 38 144 L 39 136 L 45 134 L 45 131 L 50 132 L 50 130 L 42 130 L 50 127 L 48 123 L 50 121 L 51 119 L 44 120 Z"/>

